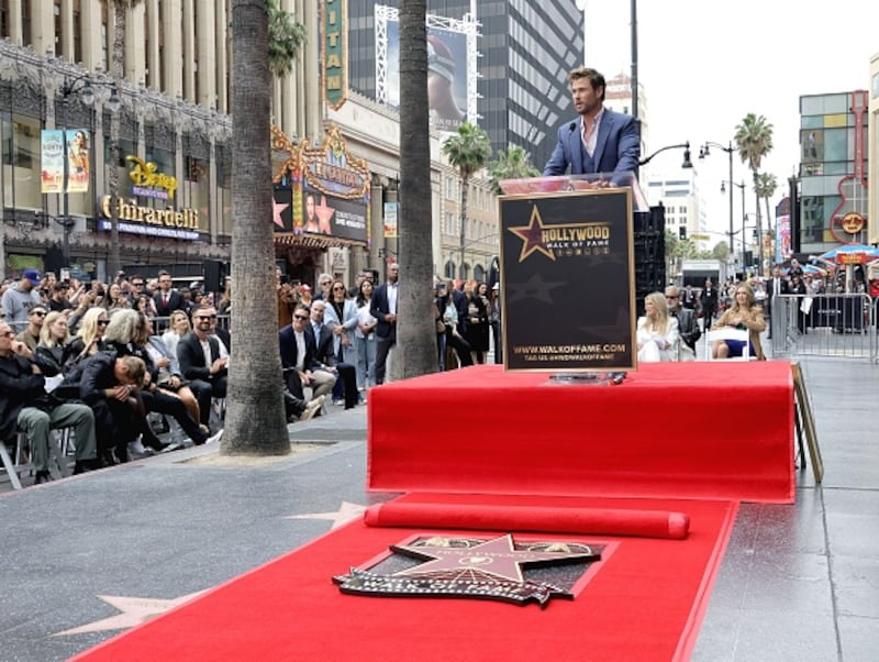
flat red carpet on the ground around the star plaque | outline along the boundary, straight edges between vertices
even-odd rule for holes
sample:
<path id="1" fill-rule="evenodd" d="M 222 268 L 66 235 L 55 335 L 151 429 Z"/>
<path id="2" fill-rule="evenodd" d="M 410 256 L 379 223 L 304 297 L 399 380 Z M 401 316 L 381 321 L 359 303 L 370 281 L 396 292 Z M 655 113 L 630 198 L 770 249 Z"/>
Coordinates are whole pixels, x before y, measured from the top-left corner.
<path id="1" fill-rule="evenodd" d="M 576 599 L 553 600 L 542 610 L 483 600 L 342 595 L 333 575 L 426 532 L 353 522 L 77 660 L 685 660 L 737 509 L 735 503 L 708 499 L 433 494 L 402 500 L 430 500 L 439 508 L 479 503 L 665 510 L 686 514 L 690 529 L 686 540 L 538 536 L 619 543 Z"/>

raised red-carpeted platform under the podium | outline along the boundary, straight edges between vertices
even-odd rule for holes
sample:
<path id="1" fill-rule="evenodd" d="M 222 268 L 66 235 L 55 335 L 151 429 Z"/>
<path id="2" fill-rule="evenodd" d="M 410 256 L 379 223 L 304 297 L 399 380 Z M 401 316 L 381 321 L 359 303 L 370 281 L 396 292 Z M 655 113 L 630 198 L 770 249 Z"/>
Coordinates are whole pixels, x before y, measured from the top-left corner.
<path id="1" fill-rule="evenodd" d="M 383 492 L 792 503 L 790 364 L 652 363 L 620 386 L 483 365 L 369 393 Z"/>

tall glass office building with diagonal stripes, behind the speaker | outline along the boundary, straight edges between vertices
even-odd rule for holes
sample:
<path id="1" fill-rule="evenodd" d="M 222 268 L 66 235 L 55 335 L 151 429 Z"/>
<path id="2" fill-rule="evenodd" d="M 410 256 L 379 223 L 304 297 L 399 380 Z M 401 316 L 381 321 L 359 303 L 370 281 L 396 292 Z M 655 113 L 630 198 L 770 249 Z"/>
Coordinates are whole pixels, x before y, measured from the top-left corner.
<path id="1" fill-rule="evenodd" d="M 377 98 L 376 5 L 398 2 L 348 2 L 348 85 L 370 98 Z M 542 169 L 558 129 L 576 114 L 566 77 L 582 64 L 582 11 L 575 0 L 427 0 L 436 16 L 463 20 L 471 10 L 480 24 L 476 123 L 496 153 L 522 146 Z"/>

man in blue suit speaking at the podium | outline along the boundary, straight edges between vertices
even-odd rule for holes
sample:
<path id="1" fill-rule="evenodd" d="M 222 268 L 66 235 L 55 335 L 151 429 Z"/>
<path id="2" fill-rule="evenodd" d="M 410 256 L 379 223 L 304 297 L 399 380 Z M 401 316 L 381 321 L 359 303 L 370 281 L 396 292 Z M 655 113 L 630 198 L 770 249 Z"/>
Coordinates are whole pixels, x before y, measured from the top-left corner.
<path id="1" fill-rule="evenodd" d="M 588 67 L 568 74 L 578 118 L 558 130 L 544 176 L 637 170 L 641 131 L 632 115 L 604 108 L 604 76 Z"/>

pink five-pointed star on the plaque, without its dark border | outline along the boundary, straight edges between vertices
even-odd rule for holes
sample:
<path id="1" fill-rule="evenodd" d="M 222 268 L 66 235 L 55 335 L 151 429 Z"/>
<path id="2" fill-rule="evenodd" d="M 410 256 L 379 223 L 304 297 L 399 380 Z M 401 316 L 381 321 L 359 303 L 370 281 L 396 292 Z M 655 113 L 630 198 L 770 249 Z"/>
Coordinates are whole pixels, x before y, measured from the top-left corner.
<path id="1" fill-rule="evenodd" d="M 391 545 L 400 554 L 425 559 L 414 567 L 393 576 L 413 576 L 433 573 L 476 573 L 490 575 L 509 582 L 524 583 L 522 565 L 531 563 L 571 562 L 594 559 L 591 552 L 556 552 L 516 550 L 510 533 L 487 540 L 470 548 Z"/>

